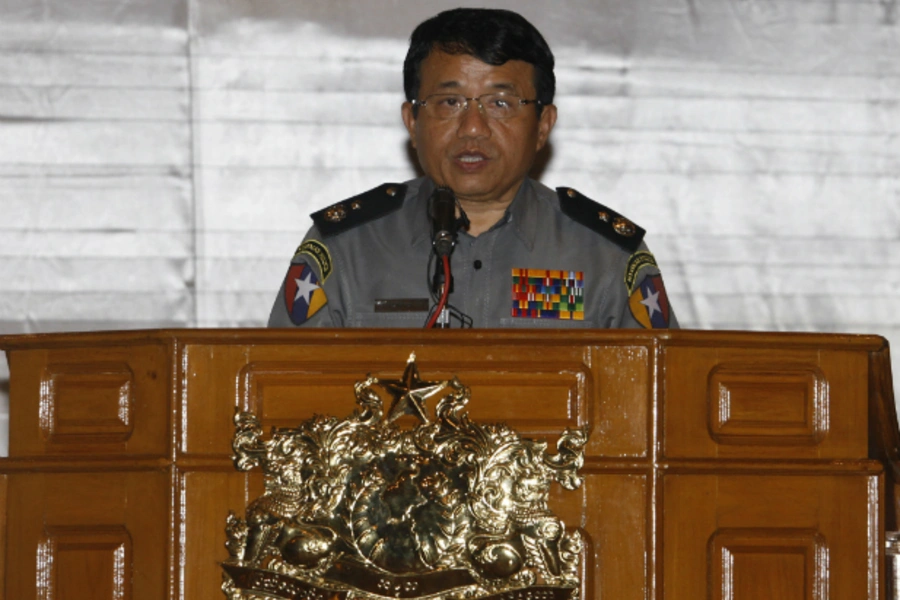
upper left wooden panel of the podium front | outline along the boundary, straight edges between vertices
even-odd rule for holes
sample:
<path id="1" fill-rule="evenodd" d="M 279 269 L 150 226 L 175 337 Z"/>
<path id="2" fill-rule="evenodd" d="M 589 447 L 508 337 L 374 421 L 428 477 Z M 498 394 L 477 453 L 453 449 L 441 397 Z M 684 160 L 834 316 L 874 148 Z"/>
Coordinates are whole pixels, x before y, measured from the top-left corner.
<path id="1" fill-rule="evenodd" d="M 168 363 L 161 344 L 11 353 L 9 455 L 165 456 Z"/>

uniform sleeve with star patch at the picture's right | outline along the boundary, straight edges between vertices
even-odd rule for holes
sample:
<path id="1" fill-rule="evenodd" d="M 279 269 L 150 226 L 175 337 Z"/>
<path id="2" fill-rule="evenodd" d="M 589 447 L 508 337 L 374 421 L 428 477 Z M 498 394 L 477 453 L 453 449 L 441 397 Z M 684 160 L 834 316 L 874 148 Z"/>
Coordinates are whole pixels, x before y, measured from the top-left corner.
<path id="1" fill-rule="evenodd" d="M 610 290 L 613 315 L 610 327 L 678 329 L 678 319 L 669 304 L 662 273 L 644 244 L 628 257 L 622 277 L 613 286 Z"/>

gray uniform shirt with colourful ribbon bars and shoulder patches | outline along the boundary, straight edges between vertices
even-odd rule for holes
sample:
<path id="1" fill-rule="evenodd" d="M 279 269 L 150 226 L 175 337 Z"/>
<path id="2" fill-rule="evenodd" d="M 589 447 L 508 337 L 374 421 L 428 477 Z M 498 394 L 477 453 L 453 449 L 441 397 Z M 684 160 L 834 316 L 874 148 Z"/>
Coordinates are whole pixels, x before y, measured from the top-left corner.
<path id="1" fill-rule="evenodd" d="M 429 179 L 416 179 L 393 212 L 329 236 L 313 226 L 292 260 L 269 326 L 423 327 L 427 309 L 418 305 L 424 299 L 433 304 L 433 189 Z M 473 327 L 677 327 L 646 246 L 626 250 L 615 236 L 564 214 L 556 192 L 531 179 L 489 231 L 459 233 L 451 267 L 449 304 Z M 560 295 L 565 310 L 556 312 Z M 379 301 L 405 310 L 382 312 Z M 541 306 L 540 312 L 528 308 Z"/>

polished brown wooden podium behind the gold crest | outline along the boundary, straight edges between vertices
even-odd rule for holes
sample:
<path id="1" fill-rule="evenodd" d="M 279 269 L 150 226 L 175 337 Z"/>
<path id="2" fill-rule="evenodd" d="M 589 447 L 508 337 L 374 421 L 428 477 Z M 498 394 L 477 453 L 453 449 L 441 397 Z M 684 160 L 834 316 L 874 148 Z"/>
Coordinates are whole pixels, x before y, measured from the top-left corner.
<path id="1" fill-rule="evenodd" d="M 7 600 L 224 598 L 236 409 L 346 416 L 367 373 L 453 375 L 530 437 L 587 426 L 553 510 L 586 599 L 884 598 L 900 435 L 875 336 L 695 331 L 159 330 L 0 337 Z"/>

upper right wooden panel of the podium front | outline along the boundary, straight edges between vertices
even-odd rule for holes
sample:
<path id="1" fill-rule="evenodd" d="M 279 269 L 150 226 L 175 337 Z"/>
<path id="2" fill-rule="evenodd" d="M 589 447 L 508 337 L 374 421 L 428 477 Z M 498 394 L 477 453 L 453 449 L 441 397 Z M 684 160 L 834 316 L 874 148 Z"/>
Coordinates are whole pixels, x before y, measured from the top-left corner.
<path id="1" fill-rule="evenodd" d="M 667 458 L 868 455 L 865 353 L 669 347 L 664 360 Z"/>

